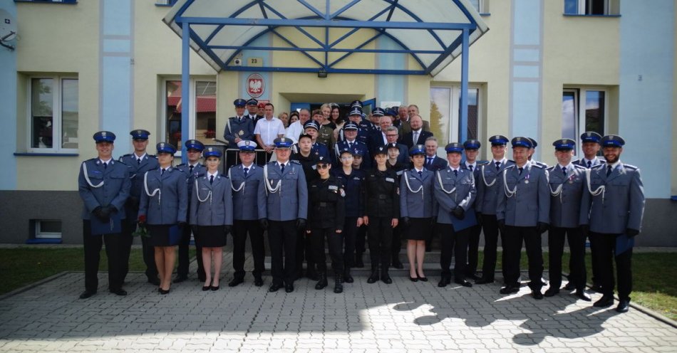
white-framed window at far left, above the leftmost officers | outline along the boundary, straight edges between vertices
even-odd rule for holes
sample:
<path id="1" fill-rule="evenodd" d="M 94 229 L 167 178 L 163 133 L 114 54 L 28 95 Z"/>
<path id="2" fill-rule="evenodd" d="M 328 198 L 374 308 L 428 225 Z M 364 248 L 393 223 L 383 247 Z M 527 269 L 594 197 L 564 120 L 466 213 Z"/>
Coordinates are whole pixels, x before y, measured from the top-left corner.
<path id="1" fill-rule="evenodd" d="M 29 80 L 29 152 L 78 151 L 78 78 Z"/>

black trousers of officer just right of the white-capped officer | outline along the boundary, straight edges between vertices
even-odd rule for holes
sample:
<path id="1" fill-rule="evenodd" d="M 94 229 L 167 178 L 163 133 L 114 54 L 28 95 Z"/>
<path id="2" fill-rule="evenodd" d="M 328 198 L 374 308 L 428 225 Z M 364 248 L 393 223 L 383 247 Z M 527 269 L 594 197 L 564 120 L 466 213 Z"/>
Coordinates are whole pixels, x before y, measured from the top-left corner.
<path id="1" fill-rule="evenodd" d="M 270 273 L 274 285 L 294 284 L 297 235 L 296 220 L 269 221 Z"/>

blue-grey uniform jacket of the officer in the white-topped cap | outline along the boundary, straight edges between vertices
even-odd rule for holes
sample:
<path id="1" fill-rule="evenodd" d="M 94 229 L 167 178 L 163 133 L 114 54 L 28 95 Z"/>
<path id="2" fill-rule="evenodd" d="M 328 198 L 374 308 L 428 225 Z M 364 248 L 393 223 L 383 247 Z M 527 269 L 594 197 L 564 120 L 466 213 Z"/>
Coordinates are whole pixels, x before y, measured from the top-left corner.
<path id="1" fill-rule="evenodd" d="M 266 218 L 265 194 L 259 196 L 259 187 L 263 184 L 263 167 L 252 163 L 247 170 L 247 177 L 244 177 L 244 167 L 237 164 L 228 169 L 228 174 L 233 189 L 233 218 L 238 221 Z"/>

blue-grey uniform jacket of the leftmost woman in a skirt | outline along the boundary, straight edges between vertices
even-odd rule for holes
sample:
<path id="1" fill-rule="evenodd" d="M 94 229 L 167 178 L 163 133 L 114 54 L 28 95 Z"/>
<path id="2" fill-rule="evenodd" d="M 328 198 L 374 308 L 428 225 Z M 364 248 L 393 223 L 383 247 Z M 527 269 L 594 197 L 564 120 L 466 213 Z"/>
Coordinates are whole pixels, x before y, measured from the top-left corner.
<path id="1" fill-rule="evenodd" d="M 186 174 L 169 167 L 145 173 L 138 216 L 146 216 L 148 224 L 176 224 L 187 221 L 188 189 Z"/>

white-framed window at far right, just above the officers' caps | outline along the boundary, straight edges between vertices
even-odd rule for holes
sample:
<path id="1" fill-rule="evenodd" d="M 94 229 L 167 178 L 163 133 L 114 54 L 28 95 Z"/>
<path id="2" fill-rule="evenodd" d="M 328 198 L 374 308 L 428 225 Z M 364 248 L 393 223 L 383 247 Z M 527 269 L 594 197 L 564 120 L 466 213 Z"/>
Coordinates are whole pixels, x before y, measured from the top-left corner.
<path id="1" fill-rule="evenodd" d="M 562 137 L 580 146 L 583 132 L 604 136 L 607 92 L 598 88 L 564 88 L 562 91 Z"/>

